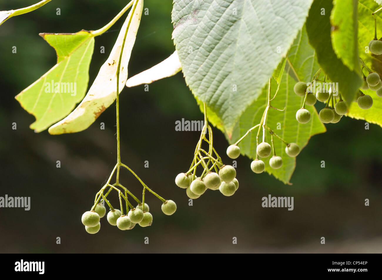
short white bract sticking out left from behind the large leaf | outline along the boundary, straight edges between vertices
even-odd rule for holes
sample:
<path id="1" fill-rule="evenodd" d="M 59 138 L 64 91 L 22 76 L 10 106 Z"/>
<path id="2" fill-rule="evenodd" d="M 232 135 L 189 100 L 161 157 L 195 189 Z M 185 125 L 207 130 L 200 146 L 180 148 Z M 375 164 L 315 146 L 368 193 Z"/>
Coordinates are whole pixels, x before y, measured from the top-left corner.
<path id="1" fill-rule="evenodd" d="M 126 87 L 135 87 L 136 85 L 141 84 L 151 84 L 156 80 L 174 76 L 181 69 L 182 66 L 180 65 L 178 53 L 177 51 L 174 51 L 172 55 L 170 55 L 162 62 L 129 78 L 126 82 Z"/>

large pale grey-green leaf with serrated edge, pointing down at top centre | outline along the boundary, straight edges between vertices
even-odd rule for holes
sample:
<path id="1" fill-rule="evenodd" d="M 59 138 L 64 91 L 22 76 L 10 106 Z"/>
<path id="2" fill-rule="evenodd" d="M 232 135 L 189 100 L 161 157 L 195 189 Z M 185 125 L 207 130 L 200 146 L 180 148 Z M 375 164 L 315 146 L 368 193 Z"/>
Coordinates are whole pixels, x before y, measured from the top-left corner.
<path id="1" fill-rule="evenodd" d="M 186 83 L 231 135 L 304 24 L 311 0 L 174 0 Z"/>

